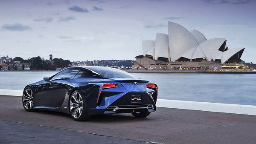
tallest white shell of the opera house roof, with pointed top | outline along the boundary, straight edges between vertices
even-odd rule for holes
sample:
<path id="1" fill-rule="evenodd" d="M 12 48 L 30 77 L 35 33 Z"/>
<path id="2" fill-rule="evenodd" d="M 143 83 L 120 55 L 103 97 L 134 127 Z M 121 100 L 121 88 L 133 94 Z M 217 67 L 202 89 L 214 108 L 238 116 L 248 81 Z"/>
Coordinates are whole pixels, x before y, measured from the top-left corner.
<path id="1" fill-rule="evenodd" d="M 170 61 L 180 58 L 189 49 L 198 45 L 195 37 L 183 26 L 168 22 Z"/>

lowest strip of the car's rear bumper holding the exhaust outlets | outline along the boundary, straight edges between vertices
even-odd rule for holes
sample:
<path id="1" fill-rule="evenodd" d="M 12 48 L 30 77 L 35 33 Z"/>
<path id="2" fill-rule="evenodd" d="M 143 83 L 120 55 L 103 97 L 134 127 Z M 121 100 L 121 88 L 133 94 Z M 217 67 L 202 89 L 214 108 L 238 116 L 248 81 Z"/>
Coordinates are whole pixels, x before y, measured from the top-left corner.
<path id="1" fill-rule="evenodd" d="M 122 106 L 109 106 L 105 109 L 104 114 L 113 113 L 131 113 L 131 112 L 155 112 L 156 107 L 152 104 L 145 105 L 122 105 Z"/>

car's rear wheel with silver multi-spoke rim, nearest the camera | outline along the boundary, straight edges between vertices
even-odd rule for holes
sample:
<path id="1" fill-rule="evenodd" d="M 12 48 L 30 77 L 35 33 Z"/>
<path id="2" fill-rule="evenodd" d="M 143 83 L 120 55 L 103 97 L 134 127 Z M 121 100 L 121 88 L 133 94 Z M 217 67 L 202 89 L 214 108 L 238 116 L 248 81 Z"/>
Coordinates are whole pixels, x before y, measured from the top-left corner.
<path id="1" fill-rule="evenodd" d="M 87 112 L 86 98 L 79 90 L 75 90 L 70 96 L 69 109 L 75 121 L 87 121 L 91 118 Z"/>

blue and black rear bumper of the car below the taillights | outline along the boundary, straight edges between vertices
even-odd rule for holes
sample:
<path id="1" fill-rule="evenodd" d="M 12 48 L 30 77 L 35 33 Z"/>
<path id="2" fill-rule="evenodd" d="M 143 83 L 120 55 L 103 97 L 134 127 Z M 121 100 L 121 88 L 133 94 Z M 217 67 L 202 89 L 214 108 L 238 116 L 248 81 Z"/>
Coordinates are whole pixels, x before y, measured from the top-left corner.
<path id="1" fill-rule="evenodd" d="M 139 96 L 141 101 L 134 102 L 132 100 L 134 96 Z M 156 95 L 150 95 L 148 92 L 116 92 L 116 95 L 113 95 L 113 92 L 102 91 L 97 107 L 88 109 L 88 114 L 154 112 L 156 111 L 154 99 Z"/>

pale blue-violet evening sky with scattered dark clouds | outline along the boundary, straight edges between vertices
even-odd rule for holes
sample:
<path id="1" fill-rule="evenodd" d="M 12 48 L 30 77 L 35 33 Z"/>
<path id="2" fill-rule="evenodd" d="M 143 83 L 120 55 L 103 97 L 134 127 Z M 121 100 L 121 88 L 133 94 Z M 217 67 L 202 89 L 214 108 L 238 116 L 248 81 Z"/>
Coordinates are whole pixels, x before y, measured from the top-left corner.
<path id="1" fill-rule="evenodd" d="M 135 60 L 168 21 L 256 63 L 256 0 L 0 0 L 0 56 Z"/>

